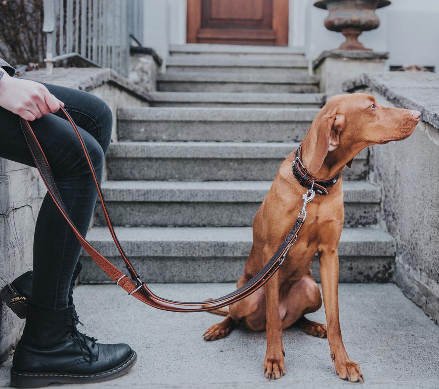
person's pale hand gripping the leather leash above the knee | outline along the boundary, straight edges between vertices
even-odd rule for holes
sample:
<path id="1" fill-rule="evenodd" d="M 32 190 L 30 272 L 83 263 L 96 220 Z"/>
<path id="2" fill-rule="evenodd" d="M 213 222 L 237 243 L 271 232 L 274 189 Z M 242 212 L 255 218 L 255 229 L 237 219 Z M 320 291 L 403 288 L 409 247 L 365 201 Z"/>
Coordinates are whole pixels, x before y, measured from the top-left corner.
<path id="1" fill-rule="evenodd" d="M 1 70 L 0 68 L 0 71 Z M 64 103 L 42 84 L 11 77 L 5 71 L 0 80 L 0 106 L 25 120 L 35 120 L 55 113 Z"/>

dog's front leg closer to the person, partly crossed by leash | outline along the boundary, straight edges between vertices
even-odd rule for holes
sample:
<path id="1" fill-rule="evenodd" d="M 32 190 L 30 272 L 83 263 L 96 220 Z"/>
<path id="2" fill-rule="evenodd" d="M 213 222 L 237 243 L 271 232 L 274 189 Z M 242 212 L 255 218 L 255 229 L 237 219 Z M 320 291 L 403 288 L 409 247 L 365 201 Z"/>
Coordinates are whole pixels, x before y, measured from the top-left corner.
<path id="1" fill-rule="evenodd" d="M 264 264 L 275 250 L 263 250 Z M 278 379 L 285 374 L 285 352 L 282 344 L 282 320 L 279 314 L 279 273 L 265 284 L 267 353 L 264 360 L 265 377 Z"/>

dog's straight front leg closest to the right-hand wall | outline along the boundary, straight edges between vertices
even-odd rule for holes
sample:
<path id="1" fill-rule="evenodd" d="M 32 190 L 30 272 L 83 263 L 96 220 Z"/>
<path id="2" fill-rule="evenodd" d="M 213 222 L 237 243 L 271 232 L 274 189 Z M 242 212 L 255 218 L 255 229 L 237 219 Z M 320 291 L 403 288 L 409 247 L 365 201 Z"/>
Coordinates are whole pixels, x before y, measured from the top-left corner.
<path id="1" fill-rule="evenodd" d="M 338 254 L 335 249 L 319 255 L 323 302 L 325 304 L 328 341 L 335 371 L 343 380 L 364 382 L 360 367 L 346 353 L 338 314 Z"/>

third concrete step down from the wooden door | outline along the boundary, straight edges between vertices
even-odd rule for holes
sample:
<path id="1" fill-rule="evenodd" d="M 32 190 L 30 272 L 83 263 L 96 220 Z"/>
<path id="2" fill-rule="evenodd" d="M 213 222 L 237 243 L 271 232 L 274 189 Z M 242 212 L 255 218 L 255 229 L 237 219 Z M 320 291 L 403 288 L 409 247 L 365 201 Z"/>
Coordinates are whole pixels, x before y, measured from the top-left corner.
<path id="1" fill-rule="evenodd" d="M 318 76 L 260 73 L 173 72 L 157 77 L 165 92 L 317 93 Z"/>

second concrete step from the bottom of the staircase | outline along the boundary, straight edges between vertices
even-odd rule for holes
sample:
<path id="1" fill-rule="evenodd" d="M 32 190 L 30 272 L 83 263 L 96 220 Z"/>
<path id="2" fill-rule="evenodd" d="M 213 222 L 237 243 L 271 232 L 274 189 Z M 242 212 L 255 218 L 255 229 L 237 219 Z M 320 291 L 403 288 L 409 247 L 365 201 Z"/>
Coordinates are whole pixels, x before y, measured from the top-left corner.
<path id="1" fill-rule="evenodd" d="M 251 226 L 271 181 L 106 181 L 111 220 L 118 226 Z M 381 193 L 366 181 L 343 184 L 346 226 L 378 222 Z M 104 226 L 97 205 L 97 226 Z"/>

